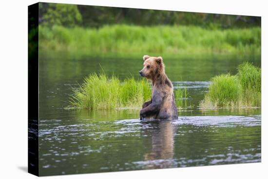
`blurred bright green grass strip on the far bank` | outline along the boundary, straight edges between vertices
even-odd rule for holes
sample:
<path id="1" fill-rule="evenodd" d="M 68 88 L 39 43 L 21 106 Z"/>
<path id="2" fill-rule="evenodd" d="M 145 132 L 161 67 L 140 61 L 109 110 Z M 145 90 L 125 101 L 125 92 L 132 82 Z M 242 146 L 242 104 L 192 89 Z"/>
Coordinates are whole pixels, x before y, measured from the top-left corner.
<path id="1" fill-rule="evenodd" d="M 39 47 L 41 51 L 92 56 L 260 55 L 261 28 L 106 25 L 96 29 L 40 25 Z"/>

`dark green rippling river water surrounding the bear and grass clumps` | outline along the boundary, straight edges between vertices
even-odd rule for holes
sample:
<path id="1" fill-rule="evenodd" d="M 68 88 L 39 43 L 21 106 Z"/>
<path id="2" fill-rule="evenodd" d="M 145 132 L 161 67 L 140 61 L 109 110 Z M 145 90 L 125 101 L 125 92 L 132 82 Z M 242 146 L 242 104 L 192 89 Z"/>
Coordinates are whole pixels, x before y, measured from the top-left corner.
<path id="1" fill-rule="evenodd" d="M 261 65 L 260 60 L 252 61 Z M 40 175 L 260 162 L 260 108 L 198 109 L 210 78 L 235 74 L 243 61 L 164 62 L 174 87 L 186 86 L 188 99 L 180 99 L 186 105 L 179 109 L 178 120 L 140 121 L 139 110 L 63 108 L 69 105 L 72 89 L 88 74 L 103 68 L 121 79 L 130 75 L 140 78 L 143 60 L 39 55 Z"/>

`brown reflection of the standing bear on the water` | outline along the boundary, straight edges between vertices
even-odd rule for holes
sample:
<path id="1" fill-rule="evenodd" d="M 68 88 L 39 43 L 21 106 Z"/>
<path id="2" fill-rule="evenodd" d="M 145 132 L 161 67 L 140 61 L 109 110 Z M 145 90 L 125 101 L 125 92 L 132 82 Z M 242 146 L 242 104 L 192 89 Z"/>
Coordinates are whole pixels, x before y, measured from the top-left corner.
<path id="1" fill-rule="evenodd" d="M 172 120 L 142 121 L 149 123 L 149 128 L 144 133 L 152 136 L 152 148 L 144 155 L 144 168 L 174 168 L 177 163 L 173 160 L 174 134 L 176 127 Z M 147 141 L 148 142 L 148 141 Z"/>

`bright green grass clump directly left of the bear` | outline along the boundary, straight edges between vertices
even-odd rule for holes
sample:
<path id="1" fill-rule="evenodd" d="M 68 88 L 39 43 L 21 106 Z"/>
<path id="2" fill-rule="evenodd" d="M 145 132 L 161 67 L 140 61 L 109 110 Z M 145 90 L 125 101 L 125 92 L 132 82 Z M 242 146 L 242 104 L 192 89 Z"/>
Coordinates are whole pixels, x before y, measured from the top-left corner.
<path id="1" fill-rule="evenodd" d="M 104 73 L 91 74 L 74 91 L 71 104 L 83 109 L 113 109 L 140 107 L 151 99 L 152 90 L 145 80 L 127 78 L 123 81 Z"/>

